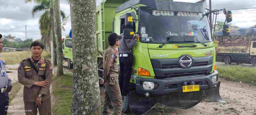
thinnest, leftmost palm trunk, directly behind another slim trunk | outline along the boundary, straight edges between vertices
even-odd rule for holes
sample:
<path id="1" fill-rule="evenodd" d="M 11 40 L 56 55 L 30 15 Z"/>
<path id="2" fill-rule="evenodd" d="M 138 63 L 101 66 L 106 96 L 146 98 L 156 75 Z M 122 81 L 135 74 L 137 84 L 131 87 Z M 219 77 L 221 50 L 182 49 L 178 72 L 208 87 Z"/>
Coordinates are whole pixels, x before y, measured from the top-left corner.
<path id="1" fill-rule="evenodd" d="M 51 24 L 52 24 L 52 43 L 53 43 L 53 62 L 54 66 L 57 65 L 57 56 L 56 56 L 56 30 L 55 30 L 55 16 L 54 8 L 51 8 Z"/>

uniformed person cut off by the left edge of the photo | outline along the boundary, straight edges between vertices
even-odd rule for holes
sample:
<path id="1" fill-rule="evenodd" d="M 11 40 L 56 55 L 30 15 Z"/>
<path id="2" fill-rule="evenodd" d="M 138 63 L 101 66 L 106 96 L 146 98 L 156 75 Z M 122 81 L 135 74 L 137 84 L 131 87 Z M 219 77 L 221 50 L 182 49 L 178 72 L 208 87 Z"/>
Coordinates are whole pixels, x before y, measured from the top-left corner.
<path id="1" fill-rule="evenodd" d="M 0 34 L 0 50 L 3 49 L 2 35 Z M 5 61 L 2 55 L 0 55 L 0 115 L 7 115 L 9 96 L 8 92 L 12 90 L 12 80 L 8 78 L 6 74 Z"/>

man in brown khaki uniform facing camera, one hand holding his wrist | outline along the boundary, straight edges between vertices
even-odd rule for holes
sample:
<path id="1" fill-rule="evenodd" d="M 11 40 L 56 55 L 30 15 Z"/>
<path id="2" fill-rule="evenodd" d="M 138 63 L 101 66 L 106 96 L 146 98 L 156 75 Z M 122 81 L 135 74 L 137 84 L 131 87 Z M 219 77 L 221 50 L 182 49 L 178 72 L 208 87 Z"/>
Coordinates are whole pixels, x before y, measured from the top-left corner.
<path id="1" fill-rule="evenodd" d="M 18 68 L 19 82 L 24 85 L 23 99 L 26 115 L 51 115 L 50 84 L 52 81 L 52 64 L 41 54 L 44 45 L 33 42 L 30 45 L 32 57 L 20 62 Z M 36 70 L 35 70 L 35 69 Z"/>

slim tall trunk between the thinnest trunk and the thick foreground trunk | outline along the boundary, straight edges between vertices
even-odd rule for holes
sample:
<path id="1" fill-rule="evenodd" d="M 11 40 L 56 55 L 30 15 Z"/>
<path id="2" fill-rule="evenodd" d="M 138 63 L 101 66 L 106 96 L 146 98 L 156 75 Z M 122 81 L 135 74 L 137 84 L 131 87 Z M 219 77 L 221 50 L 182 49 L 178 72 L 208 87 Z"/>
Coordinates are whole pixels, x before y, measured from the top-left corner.
<path id="1" fill-rule="evenodd" d="M 57 43 L 57 77 L 63 75 L 63 61 L 62 61 L 62 41 L 61 41 L 61 20 L 60 20 L 60 0 L 55 0 L 54 4 L 55 16 L 56 16 L 56 43 Z"/>

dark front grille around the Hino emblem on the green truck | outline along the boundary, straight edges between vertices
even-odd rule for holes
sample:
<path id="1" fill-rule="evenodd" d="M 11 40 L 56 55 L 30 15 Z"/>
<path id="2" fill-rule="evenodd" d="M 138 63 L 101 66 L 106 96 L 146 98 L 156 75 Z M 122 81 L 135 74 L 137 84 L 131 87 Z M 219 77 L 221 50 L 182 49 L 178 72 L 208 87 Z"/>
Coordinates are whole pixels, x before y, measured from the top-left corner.
<path id="1" fill-rule="evenodd" d="M 156 79 L 172 79 L 173 77 L 202 76 L 212 71 L 213 56 L 192 57 L 190 68 L 180 67 L 180 58 L 151 59 Z"/>

